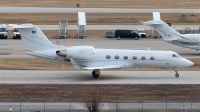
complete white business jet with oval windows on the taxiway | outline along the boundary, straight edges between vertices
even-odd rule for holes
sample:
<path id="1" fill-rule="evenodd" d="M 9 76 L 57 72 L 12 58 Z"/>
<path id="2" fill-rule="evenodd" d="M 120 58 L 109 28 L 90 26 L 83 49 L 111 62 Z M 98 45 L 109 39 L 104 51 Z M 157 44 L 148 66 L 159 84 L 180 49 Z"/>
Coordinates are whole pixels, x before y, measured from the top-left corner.
<path id="1" fill-rule="evenodd" d="M 9 26 L 18 28 L 26 48 L 26 54 L 71 64 L 74 68 L 93 70 L 98 78 L 100 69 L 127 67 L 188 67 L 194 63 L 172 51 L 95 49 L 93 46 L 60 46 L 52 44 L 43 32 L 32 24 Z"/>

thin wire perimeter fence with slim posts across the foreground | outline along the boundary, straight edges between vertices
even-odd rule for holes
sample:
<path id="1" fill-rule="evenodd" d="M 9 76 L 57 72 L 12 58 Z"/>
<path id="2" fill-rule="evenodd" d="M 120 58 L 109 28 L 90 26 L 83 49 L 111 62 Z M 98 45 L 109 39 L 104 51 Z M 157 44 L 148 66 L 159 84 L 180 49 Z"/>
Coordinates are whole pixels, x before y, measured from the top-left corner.
<path id="1" fill-rule="evenodd" d="M 92 91 L 80 91 L 29 91 L 27 88 L 23 92 L 1 92 L 0 111 L 7 112 L 11 106 L 13 112 L 85 112 L 84 98 Z M 99 103 L 104 104 L 102 112 L 180 112 L 183 105 L 187 112 L 200 112 L 198 92 L 182 91 L 181 94 L 174 94 L 155 90 L 141 93 L 103 91 L 100 94 L 102 97 Z"/>

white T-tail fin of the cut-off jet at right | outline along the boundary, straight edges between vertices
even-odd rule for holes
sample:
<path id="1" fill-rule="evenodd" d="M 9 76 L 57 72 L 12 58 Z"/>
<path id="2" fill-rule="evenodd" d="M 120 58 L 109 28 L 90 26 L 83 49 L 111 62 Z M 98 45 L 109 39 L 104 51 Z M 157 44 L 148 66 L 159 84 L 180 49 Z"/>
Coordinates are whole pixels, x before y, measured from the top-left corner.
<path id="1" fill-rule="evenodd" d="M 165 41 L 177 40 L 177 37 L 182 35 L 160 20 L 159 12 L 153 12 L 153 19 L 152 21 L 143 22 L 143 25 L 152 26 Z"/>

